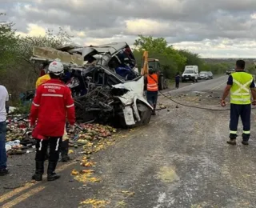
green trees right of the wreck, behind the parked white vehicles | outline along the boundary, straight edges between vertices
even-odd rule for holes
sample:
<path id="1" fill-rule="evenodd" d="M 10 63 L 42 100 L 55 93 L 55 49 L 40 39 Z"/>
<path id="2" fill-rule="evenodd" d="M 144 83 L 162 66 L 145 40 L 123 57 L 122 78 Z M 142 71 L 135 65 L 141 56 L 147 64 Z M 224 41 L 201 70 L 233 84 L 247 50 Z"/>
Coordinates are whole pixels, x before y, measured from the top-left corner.
<path id="1" fill-rule="evenodd" d="M 226 70 L 234 67 L 234 62 L 206 62 L 198 54 L 189 50 L 175 50 L 169 46 L 165 38 L 153 38 L 138 35 L 134 42 L 134 56 L 138 61 L 138 66 L 142 67 L 142 54 L 144 50 L 149 52 L 149 58 L 158 58 L 162 66 L 162 72 L 166 78 L 174 78 L 179 72 L 182 74 L 185 66 L 198 66 L 199 71 L 212 71 L 214 74 L 225 74 Z M 253 67 L 247 67 L 254 71 Z"/>

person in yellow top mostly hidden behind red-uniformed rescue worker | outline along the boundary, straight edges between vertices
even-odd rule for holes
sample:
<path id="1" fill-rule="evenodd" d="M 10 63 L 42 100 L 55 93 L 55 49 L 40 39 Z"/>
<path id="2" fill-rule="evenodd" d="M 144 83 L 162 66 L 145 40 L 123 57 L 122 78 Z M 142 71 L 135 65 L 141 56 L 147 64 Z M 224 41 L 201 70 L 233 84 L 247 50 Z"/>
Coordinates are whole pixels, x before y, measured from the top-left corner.
<path id="1" fill-rule="evenodd" d="M 46 72 L 46 70 L 44 70 Z M 35 88 L 38 89 L 38 86 L 42 85 L 43 83 L 47 82 L 50 80 L 50 75 L 49 74 L 44 74 L 41 77 L 38 78 Z M 67 162 L 70 160 L 70 157 L 68 156 L 69 152 L 69 138 L 66 133 L 66 127 L 64 130 L 64 135 L 62 137 L 62 146 L 61 146 L 61 156 L 62 156 L 62 162 Z M 48 157 L 48 153 L 46 154 Z"/>

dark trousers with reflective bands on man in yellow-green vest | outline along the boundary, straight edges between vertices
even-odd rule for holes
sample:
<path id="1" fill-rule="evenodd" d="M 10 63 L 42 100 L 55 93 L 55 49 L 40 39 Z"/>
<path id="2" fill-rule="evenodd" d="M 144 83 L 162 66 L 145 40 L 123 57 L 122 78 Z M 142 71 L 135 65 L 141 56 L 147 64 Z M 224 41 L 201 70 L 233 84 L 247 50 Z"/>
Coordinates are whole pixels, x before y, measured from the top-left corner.
<path id="1" fill-rule="evenodd" d="M 250 138 L 250 111 L 251 105 L 230 104 L 230 138 L 238 137 L 238 120 L 241 116 L 243 132 L 242 139 L 248 141 Z"/>

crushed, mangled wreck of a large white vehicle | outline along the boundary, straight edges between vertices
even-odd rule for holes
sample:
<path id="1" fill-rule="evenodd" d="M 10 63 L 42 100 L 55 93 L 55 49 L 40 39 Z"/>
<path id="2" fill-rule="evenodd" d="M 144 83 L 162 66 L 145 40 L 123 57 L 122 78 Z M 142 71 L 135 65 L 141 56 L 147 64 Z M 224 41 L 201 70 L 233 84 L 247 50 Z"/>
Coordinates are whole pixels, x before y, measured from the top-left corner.
<path id="1" fill-rule="evenodd" d="M 134 71 L 136 62 L 126 42 L 64 46 L 58 50 L 34 47 L 30 61 L 46 66 L 55 59 L 71 74 L 66 85 L 74 95 L 78 122 L 109 123 L 122 128 L 150 122 L 152 107 L 143 98 L 144 78 Z"/>

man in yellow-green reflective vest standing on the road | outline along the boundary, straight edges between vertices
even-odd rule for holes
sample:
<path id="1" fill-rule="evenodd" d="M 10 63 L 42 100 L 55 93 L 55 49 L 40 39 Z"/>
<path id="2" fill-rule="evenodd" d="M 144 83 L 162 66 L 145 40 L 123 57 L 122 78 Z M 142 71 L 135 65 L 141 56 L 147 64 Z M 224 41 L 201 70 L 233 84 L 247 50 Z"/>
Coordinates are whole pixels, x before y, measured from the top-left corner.
<path id="1" fill-rule="evenodd" d="M 227 141 L 230 145 L 236 145 L 236 138 L 238 137 L 238 120 L 240 116 L 243 126 L 242 144 L 248 145 L 250 138 L 250 91 L 253 96 L 252 103 L 255 106 L 256 90 L 254 78 L 251 74 L 244 71 L 245 66 L 246 62 L 243 60 L 238 60 L 236 62 L 235 72 L 230 74 L 221 100 L 222 106 L 226 106 L 225 99 L 230 93 L 230 140 Z"/>

